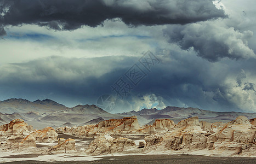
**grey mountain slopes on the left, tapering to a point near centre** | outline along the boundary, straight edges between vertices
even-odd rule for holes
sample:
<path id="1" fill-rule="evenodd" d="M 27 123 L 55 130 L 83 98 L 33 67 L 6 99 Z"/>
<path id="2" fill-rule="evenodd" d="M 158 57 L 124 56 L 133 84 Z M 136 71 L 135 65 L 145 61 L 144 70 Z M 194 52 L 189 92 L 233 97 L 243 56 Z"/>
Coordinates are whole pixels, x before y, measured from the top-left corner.
<path id="1" fill-rule="evenodd" d="M 24 119 L 35 128 L 48 126 L 75 126 L 93 119 L 123 118 L 122 114 L 110 114 L 95 105 L 65 107 L 50 99 L 36 100 L 7 99 L 0 101 L 0 124 L 7 124 L 14 119 Z M 67 124 L 70 123 L 70 124 Z M 93 124 L 93 122 L 92 122 Z"/>

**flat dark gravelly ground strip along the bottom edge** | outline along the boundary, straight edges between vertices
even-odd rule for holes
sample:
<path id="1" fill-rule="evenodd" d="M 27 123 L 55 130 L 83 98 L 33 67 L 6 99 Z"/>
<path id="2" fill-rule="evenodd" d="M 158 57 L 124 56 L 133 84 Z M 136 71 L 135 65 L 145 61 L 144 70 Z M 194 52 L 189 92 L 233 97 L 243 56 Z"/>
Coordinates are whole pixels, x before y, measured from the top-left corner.
<path id="1" fill-rule="evenodd" d="M 89 161 L 90 160 L 90 161 Z M 88 161 L 19 161 L 7 163 L 256 163 L 251 157 L 209 157 L 200 155 L 127 155 L 127 156 L 102 156 Z"/>

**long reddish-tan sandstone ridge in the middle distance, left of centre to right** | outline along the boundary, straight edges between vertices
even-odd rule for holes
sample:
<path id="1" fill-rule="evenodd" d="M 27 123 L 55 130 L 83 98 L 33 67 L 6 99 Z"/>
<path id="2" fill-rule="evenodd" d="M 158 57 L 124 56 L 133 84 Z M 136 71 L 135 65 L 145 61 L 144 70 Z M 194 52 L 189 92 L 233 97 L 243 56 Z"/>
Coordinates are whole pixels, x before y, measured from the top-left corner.
<path id="1" fill-rule="evenodd" d="M 59 127 L 58 133 L 71 134 L 81 138 L 93 138 L 102 133 L 109 133 L 112 136 L 149 135 L 155 132 L 166 132 L 174 127 L 174 122 L 169 119 L 157 119 L 153 125 L 140 127 L 136 116 L 123 119 L 110 119 L 101 121 L 96 125 L 84 125 L 78 127 Z"/>

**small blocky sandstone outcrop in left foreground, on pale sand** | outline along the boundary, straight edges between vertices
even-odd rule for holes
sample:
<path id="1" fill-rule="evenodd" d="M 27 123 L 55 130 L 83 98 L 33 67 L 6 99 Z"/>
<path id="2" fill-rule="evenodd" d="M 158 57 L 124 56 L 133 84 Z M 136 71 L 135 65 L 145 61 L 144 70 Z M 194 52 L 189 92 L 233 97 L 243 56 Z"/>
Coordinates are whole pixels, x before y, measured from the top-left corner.
<path id="1" fill-rule="evenodd" d="M 67 153 L 68 151 L 76 151 L 76 141 L 75 139 L 64 139 L 64 138 L 59 138 L 58 139 L 58 145 L 55 147 L 49 148 L 47 150 L 47 154 L 52 154 L 55 152 L 65 152 Z"/>

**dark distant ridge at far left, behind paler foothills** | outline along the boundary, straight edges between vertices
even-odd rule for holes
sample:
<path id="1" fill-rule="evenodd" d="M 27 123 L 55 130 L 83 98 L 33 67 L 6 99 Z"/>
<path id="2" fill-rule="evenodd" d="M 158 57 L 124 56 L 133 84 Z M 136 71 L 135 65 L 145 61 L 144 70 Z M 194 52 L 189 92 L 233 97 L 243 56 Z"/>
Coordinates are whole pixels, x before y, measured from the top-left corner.
<path id="1" fill-rule="evenodd" d="M 38 99 L 37 101 L 31 102 L 27 99 L 11 98 L 0 102 L 0 112 L 8 114 L 14 112 L 27 113 L 31 111 L 38 113 L 56 112 L 65 108 L 67 107 L 50 99 L 44 99 L 43 101 Z"/>

